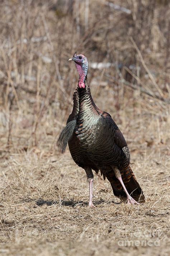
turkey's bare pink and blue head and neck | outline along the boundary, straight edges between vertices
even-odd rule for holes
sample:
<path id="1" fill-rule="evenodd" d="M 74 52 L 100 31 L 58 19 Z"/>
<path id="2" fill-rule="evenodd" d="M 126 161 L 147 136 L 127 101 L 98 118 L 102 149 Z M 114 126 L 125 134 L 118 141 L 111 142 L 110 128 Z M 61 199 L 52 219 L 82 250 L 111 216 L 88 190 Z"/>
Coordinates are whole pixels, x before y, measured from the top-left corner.
<path id="1" fill-rule="evenodd" d="M 79 73 L 78 86 L 80 88 L 85 88 L 84 81 L 85 81 L 85 78 L 88 74 L 88 68 L 89 68 L 88 59 L 82 54 L 76 55 L 76 53 L 75 53 L 74 56 L 69 60 L 73 60 L 75 62 L 77 71 Z"/>

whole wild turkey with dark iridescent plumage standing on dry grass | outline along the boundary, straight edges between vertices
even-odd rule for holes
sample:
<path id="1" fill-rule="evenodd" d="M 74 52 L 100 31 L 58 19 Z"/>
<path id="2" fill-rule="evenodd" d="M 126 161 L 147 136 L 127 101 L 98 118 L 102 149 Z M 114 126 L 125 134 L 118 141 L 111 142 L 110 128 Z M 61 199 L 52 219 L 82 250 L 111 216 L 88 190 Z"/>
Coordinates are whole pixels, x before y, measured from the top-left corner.
<path id="1" fill-rule="evenodd" d="M 145 202 L 142 189 L 129 166 L 126 140 L 110 114 L 96 107 L 91 96 L 87 79 L 88 59 L 75 53 L 69 60 L 75 62 L 79 81 L 73 96 L 72 113 L 57 145 L 63 153 L 68 143 L 73 160 L 85 170 L 89 181 L 89 206 L 94 207 L 92 169 L 96 173 L 100 170 L 104 180 L 106 177 L 110 181 L 114 195 L 122 201 L 132 205 Z"/>

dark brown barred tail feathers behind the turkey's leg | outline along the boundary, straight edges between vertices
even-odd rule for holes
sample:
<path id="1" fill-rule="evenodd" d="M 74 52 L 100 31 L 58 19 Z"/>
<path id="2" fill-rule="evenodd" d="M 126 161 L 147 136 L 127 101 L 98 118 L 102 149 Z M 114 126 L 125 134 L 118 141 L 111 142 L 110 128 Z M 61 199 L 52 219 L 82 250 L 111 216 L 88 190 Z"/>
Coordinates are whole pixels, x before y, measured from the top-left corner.
<path id="1" fill-rule="evenodd" d="M 119 197 L 123 202 L 126 202 L 127 201 L 126 193 L 124 192 L 121 183 L 115 177 L 115 175 L 113 175 L 113 173 L 114 171 L 112 172 L 112 174 L 111 172 L 109 172 L 106 175 L 107 179 L 110 181 L 110 184 L 112 186 L 113 193 L 115 196 Z M 122 175 L 123 183 L 129 195 L 131 195 L 131 197 L 133 197 L 135 201 L 139 203 L 144 203 L 145 197 L 143 195 L 143 191 L 139 183 L 137 182 L 137 179 L 134 176 L 134 173 L 131 167 L 129 166 L 126 170 L 121 171 L 121 175 Z"/>

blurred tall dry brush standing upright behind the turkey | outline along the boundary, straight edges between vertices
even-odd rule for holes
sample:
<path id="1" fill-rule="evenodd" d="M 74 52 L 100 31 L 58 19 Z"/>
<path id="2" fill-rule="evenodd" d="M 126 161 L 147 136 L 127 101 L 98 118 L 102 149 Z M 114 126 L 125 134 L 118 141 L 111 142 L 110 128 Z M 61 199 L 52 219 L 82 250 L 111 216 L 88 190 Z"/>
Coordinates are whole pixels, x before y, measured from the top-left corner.
<path id="1" fill-rule="evenodd" d="M 2 0 L 0 17 L 1 151 L 54 149 L 72 111 L 75 51 L 128 143 L 166 143 L 168 0 Z"/>

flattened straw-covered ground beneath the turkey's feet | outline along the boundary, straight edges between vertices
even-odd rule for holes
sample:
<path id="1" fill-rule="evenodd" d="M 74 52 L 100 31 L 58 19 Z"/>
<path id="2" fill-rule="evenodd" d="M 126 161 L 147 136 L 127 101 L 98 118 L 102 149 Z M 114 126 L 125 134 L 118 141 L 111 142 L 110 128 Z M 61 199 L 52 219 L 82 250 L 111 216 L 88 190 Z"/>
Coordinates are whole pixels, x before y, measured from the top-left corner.
<path id="1" fill-rule="evenodd" d="M 154 124 L 148 123 L 148 133 Z M 167 131 L 166 124 L 161 130 Z M 39 148 L 3 153 L 1 253 L 168 255 L 168 146 L 156 142 L 147 147 L 132 133 L 128 138 L 133 140 L 132 167 L 146 197 L 140 206 L 119 203 L 108 181 L 95 175 L 96 207 L 89 209 L 84 170 L 68 151 L 62 156 L 54 153 L 52 136 Z M 134 241 L 139 241 L 137 246 L 128 246 Z"/>

